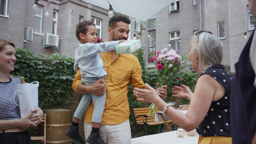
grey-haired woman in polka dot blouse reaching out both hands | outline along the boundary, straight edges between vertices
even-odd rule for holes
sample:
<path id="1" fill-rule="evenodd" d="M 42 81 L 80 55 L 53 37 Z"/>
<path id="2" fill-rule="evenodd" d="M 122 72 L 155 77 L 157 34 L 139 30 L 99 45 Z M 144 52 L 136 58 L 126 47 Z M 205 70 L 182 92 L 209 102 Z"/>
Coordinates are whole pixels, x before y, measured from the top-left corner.
<path id="1" fill-rule="evenodd" d="M 221 65 L 223 45 L 211 32 L 200 31 L 192 36 L 189 59 L 193 70 L 200 73 L 195 92 L 184 85 L 175 86 L 172 92 L 191 100 L 186 114 L 169 107 L 157 92 L 135 88 L 139 101 L 154 103 L 163 114 L 186 131 L 196 129 L 198 144 L 231 144 L 230 92 L 232 75 Z"/>

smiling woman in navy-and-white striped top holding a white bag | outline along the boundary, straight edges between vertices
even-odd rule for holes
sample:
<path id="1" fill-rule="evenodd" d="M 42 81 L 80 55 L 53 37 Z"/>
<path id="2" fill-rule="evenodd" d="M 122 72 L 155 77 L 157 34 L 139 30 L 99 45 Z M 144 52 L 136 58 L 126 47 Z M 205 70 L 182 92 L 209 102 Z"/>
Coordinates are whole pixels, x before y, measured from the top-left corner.
<path id="1" fill-rule="evenodd" d="M 38 108 L 20 117 L 20 108 L 13 102 L 20 80 L 9 75 L 16 60 L 14 43 L 0 38 L 0 144 L 31 144 L 28 128 L 36 127 L 43 116 L 43 111 Z M 17 92 L 15 102 L 19 104 Z"/>

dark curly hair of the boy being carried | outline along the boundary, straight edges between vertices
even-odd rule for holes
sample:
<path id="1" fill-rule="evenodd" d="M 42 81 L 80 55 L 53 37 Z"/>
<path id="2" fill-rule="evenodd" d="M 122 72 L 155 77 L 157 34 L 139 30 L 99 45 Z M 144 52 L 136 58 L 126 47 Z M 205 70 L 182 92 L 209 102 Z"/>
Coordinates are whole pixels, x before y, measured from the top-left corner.
<path id="1" fill-rule="evenodd" d="M 87 26 L 95 26 L 95 24 L 93 23 L 93 21 L 91 20 L 83 20 L 82 22 L 79 22 L 77 25 L 76 25 L 76 38 L 80 41 L 80 36 L 79 34 L 82 33 L 82 34 L 86 34 L 87 32 Z"/>

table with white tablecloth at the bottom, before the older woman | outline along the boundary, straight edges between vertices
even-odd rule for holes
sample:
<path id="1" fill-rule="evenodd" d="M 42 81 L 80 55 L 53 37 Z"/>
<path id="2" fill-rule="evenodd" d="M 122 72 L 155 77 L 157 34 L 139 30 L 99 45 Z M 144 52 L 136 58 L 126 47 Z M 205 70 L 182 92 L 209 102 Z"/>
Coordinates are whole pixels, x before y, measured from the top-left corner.
<path id="1" fill-rule="evenodd" d="M 131 144 L 198 144 L 198 138 L 198 134 L 189 136 L 187 133 L 183 138 L 178 138 L 175 130 L 155 135 L 145 135 L 139 138 L 132 138 Z"/>

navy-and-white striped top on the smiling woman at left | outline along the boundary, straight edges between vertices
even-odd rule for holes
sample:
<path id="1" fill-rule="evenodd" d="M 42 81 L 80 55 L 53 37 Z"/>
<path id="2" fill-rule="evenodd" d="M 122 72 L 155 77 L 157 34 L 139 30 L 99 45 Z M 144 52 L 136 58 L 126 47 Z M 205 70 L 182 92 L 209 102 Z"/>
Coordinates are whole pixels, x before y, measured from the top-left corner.
<path id="1" fill-rule="evenodd" d="M 13 96 L 20 84 L 19 78 L 11 78 L 9 82 L 0 82 L 0 120 L 20 119 L 20 107 L 13 102 Z M 18 92 L 15 102 L 19 104 Z"/>

